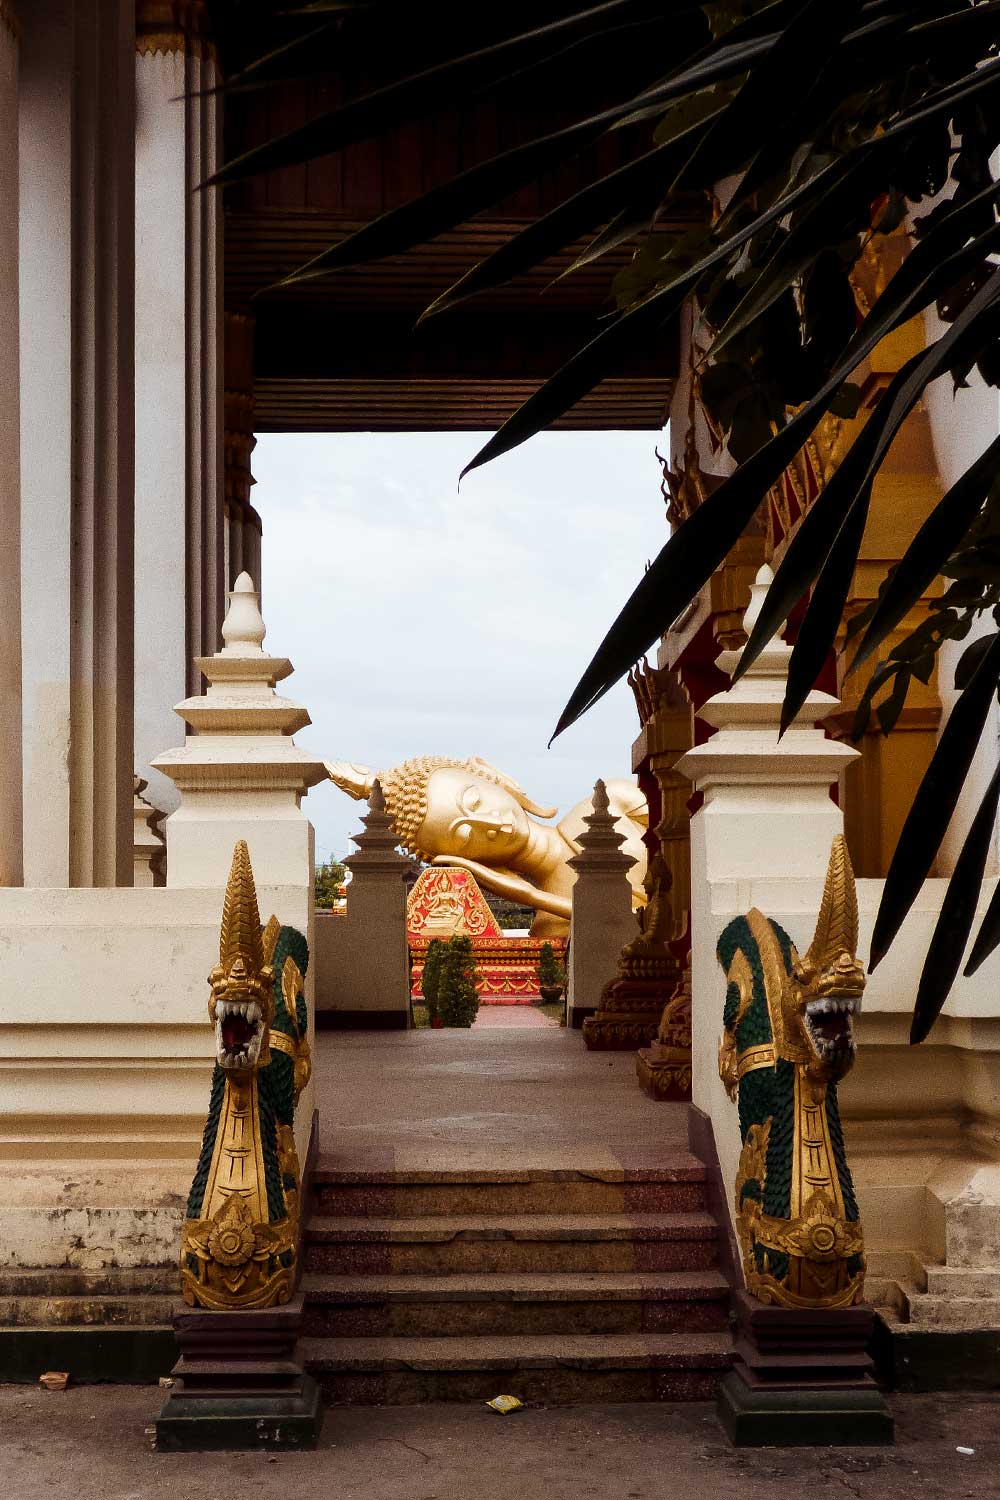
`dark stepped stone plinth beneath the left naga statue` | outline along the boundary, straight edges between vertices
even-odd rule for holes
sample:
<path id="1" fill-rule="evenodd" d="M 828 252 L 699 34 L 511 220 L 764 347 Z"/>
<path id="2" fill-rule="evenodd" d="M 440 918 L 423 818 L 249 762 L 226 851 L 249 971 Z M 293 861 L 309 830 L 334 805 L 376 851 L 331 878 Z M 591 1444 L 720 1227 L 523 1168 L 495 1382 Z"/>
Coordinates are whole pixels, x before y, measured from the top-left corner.
<path id="1" fill-rule="evenodd" d="M 180 1306 L 174 1388 L 156 1420 L 165 1450 L 315 1448 L 321 1395 L 297 1354 L 301 1293 L 279 1308 Z"/>

